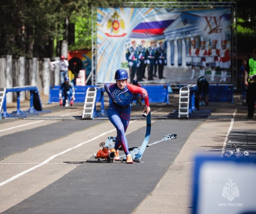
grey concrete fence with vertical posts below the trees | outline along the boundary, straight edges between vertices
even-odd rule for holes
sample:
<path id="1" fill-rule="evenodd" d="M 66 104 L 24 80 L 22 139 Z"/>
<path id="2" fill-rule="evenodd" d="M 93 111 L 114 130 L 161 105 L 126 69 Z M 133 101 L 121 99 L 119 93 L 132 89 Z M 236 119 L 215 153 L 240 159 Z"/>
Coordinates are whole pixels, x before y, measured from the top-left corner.
<path id="1" fill-rule="evenodd" d="M 41 94 L 49 95 L 50 85 L 59 83 L 60 71 L 49 68 L 50 58 L 0 57 L 0 88 L 36 86 Z M 20 93 L 20 100 L 29 99 L 28 92 Z M 8 93 L 6 102 L 15 101 L 16 94 Z"/>

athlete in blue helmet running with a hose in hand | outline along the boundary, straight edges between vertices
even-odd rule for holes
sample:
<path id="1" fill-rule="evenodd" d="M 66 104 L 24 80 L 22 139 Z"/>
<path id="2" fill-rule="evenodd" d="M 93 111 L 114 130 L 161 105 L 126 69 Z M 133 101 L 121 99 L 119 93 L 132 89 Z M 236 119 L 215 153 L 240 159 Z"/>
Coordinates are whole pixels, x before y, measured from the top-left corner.
<path id="1" fill-rule="evenodd" d="M 145 107 L 143 112 L 150 112 L 148 102 L 148 92 L 144 88 L 132 85 L 127 82 L 128 73 L 124 69 L 118 69 L 115 73 L 116 83 L 110 84 L 105 83 L 104 88 L 110 98 L 110 104 L 108 107 L 108 119 L 116 128 L 116 156 L 115 160 L 119 160 L 119 147 L 121 146 L 125 155 L 126 163 L 132 164 L 133 160 L 128 149 L 128 141 L 125 136 L 130 116 L 131 116 L 131 101 L 134 94 L 141 94 L 144 101 Z"/>

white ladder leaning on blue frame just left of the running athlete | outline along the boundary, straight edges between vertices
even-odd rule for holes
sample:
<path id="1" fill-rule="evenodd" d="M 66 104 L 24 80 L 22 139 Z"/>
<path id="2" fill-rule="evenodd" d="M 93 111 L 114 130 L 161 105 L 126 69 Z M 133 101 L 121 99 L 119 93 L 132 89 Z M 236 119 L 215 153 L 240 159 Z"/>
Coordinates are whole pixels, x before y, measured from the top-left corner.
<path id="1" fill-rule="evenodd" d="M 83 119 L 93 119 L 96 95 L 97 95 L 96 87 L 87 88 L 85 101 L 84 101 L 84 110 L 82 113 Z"/>

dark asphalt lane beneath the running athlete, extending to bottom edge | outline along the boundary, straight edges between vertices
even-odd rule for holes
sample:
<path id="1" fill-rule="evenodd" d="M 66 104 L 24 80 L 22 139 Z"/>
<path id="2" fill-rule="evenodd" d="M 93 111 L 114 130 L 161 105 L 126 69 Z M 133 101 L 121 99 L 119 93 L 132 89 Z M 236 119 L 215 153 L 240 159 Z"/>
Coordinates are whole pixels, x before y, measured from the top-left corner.
<path id="1" fill-rule="evenodd" d="M 87 161 L 77 160 L 76 163 L 82 164 L 74 170 L 2 213 L 132 213 L 153 191 L 189 135 L 202 122 L 156 120 L 151 126 L 149 143 L 161 140 L 165 134 L 178 136 L 147 147 L 141 158 L 142 163 L 98 163 L 93 156 Z M 145 131 L 143 127 L 128 134 L 129 146 L 140 146 Z M 120 153 L 122 155 L 123 152 Z"/>

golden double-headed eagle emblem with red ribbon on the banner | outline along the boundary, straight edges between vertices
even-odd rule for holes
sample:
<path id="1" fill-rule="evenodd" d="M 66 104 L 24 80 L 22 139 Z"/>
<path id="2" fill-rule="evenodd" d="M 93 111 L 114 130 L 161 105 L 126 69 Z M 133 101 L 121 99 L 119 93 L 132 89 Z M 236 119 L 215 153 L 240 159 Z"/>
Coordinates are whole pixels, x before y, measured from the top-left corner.
<path id="1" fill-rule="evenodd" d="M 111 17 L 112 19 L 109 19 L 107 24 L 107 28 L 110 30 L 110 33 L 105 34 L 111 37 L 122 37 L 126 35 L 126 33 L 124 33 L 124 20 L 120 19 L 120 15 L 115 11 Z"/>

